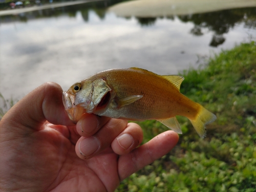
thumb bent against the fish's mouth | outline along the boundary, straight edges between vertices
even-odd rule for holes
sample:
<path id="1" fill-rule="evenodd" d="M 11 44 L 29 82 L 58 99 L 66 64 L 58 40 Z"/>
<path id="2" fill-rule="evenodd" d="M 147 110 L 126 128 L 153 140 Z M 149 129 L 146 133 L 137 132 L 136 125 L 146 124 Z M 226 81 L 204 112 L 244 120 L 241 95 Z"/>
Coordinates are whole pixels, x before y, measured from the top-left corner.
<path id="1" fill-rule="evenodd" d="M 62 89 L 59 84 L 47 82 L 18 101 L 3 117 L 15 127 L 25 125 L 38 130 L 45 121 L 53 124 L 74 125 L 62 104 Z"/>

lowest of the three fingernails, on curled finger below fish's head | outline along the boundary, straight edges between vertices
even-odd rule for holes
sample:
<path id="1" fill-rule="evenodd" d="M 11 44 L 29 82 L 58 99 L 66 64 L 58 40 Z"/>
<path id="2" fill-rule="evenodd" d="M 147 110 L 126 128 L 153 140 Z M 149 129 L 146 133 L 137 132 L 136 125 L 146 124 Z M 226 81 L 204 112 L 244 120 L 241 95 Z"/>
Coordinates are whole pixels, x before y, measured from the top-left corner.
<path id="1" fill-rule="evenodd" d="M 99 141 L 95 137 L 89 137 L 81 140 L 79 143 L 79 152 L 84 157 L 89 157 L 99 148 Z"/>

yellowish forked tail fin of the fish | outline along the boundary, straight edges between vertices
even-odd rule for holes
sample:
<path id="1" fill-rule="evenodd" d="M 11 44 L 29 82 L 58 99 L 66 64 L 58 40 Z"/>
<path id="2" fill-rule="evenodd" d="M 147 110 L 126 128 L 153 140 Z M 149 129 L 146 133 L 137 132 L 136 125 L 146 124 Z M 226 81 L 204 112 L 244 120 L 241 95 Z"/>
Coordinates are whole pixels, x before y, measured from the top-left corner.
<path id="1" fill-rule="evenodd" d="M 200 105 L 199 112 L 194 119 L 189 119 L 201 138 L 206 136 L 206 124 L 215 121 L 216 115 L 212 114 Z"/>

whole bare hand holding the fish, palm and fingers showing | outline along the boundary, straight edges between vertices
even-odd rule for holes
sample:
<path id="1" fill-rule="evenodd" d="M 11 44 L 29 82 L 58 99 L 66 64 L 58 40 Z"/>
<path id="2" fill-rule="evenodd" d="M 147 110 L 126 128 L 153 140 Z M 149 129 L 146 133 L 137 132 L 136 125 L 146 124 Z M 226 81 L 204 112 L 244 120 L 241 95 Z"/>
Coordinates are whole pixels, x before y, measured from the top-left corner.
<path id="1" fill-rule="evenodd" d="M 138 124 L 93 114 L 75 125 L 61 97 L 58 84 L 42 84 L 0 121 L 1 191 L 114 191 L 178 141 L 166 131 L 138 147 Z"/>

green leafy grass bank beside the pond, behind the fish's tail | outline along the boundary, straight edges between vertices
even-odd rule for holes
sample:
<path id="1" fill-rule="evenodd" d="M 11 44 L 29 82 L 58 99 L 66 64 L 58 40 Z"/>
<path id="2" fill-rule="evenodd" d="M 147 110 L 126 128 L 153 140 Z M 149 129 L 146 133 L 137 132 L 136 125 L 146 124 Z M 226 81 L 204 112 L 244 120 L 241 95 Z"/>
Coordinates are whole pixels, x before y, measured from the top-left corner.
<path id="1" fill-rule="evenodd" d="M 241 44 L 181 73 L 181 93 L 217 115 L 200 139 L 178 117 L 183 135 L 175 149 L 125 179 L 116 191 L 255 191 L 256 44 Z M 167 130 L 139 122 L 146 142 Z"/>

